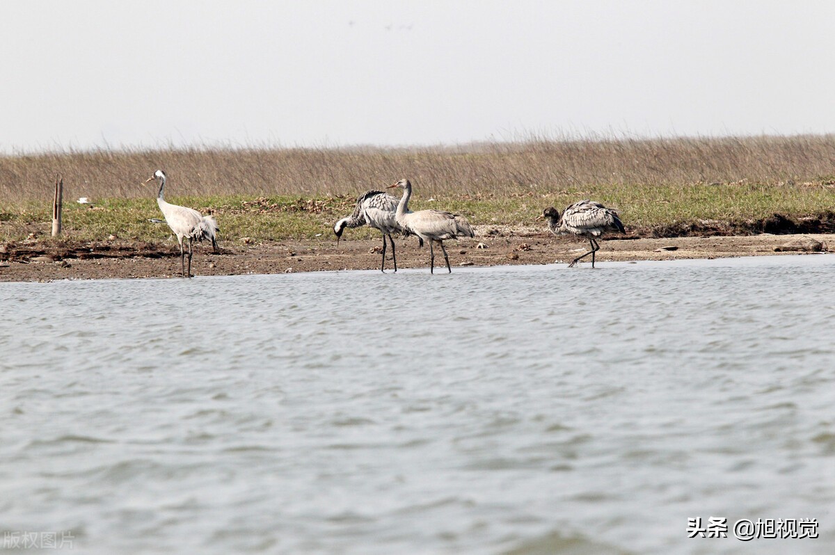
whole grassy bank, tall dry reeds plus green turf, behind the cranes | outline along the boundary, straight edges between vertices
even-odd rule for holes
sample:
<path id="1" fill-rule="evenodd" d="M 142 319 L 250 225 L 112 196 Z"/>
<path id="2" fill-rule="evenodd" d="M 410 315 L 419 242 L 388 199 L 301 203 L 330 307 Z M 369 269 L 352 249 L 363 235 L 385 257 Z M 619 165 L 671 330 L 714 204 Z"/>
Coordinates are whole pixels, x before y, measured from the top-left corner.
<path id="1" fill-rule="evenodd" d="M 417 209 L 459 210 L 477 224 L 533 225 L 545 205 L 559 207 L 586 197 L 618 206 L 626 222 L 644 226 L 693 219 L 734 221 L 775 212 L 802 216 L 835 205 L 833 135 L 529 139 L 415 149 L 191 149 L 3 156 L 0 223 L 25 220 L 33 224 L 48 219 L 58 173 L 63 175 L 68 204 L 86 196 L 111 211 L 139 207 L 142 213 L 135 214 L 137 218 L 159 215 L 152 201 L 155 186 L 142 184 L 158 168 L 169 175 L 167 199 L 215 209 L 230 224 L 225 226 L 227 236 L 311 235 L 349 209 L 358 193 L 380 189 L 402 177 L 415 186 Z M 293 222 L 287 219 L 290 216 L 284 217 L 286 225 L 278 230 L 266 220 L 252 220 L 255 210 L 247 203 L 258 197 L 266 197 L 256 206 L 259 217 L 266 219 L 271 210 L 264 209 L 265 203 L 284 213 L 286 206 L 299 204 L 301 199 L 324 204 L 314 203 L 317 215 L 307 214 L 305 221 L 298 214 Z M 304 213 L 302 204 L 289 211 Z M 104 216 L 71 211 L 68 220 L 72 222 L 73 217 L 79 237 L 98 236 L 98 230 L 86 235 L 83 231 L 95 227 L 96 221 L 104 233 L 118 220 L 115 214 L 109 222 Z M 8 225 L 7 230 L 0 230 L 7 239 L 18 234 Z M 256 233 L 247 233 L 247 226 Z M 151 232 L 139 226 L 129 233 L 143 235 L 145 231 Z"/>

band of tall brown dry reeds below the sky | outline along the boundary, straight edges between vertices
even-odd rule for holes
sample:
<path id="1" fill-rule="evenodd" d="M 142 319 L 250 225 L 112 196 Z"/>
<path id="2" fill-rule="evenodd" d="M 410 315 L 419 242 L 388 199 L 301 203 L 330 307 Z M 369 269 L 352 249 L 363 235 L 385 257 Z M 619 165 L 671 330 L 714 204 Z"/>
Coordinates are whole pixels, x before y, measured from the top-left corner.
<path id="1" fill-rule="evenodd" d="M 0 202 L 45 199 L 54 175 L 68 198 L 148 196 L 154 169 L 170 194 L 331 196 L 401 177 L 422 194 L 541 193 L 602 185 L 763 184 L 835 173 L 835 135 L 726 139 L 531 139 L 419 149 L 240 149 L 56 152 L 0 157 Z"/>

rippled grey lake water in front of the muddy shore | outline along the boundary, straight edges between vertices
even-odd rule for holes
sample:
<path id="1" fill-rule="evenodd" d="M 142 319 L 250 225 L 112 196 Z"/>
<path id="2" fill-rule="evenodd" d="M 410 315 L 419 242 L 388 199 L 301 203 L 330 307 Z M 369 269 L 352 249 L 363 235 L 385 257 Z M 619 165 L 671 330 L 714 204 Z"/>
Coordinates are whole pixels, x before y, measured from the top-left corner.
<path id="1" fill-rule="evenodd" d="M 0 546 L 831 553 L 833 300 L 835 255 L 2 284 Z"/>

